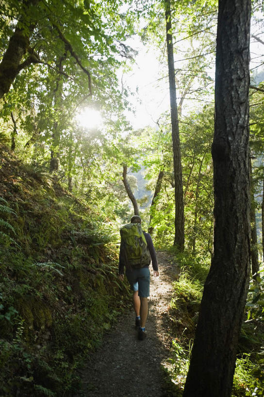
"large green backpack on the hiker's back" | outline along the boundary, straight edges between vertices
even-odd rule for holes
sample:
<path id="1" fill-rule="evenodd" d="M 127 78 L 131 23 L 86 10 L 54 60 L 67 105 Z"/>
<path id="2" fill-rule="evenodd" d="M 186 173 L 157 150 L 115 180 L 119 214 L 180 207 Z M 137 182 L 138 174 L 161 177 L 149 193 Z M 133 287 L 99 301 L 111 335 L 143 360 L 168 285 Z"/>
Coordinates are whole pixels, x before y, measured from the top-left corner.
<path id="1" fill-rule="evenodd" d="M 147 241 L 140 223 L 128 223 L 121 227 L 121 246 L 128 269 L 141 269 L 150 264 Z"/>

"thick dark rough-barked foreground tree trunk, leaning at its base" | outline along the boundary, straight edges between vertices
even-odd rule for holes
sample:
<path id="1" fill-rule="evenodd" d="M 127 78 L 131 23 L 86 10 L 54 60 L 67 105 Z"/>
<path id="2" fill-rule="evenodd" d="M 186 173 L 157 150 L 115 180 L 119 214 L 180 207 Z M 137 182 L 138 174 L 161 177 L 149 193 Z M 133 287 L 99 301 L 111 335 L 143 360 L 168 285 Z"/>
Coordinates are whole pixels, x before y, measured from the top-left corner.
<path id="1" fill-rule="evenodd" d="M 230 397 L 250 273 L 250 0 L 219 0 L 216 38 L 214 256 L 183 397 Z"/>

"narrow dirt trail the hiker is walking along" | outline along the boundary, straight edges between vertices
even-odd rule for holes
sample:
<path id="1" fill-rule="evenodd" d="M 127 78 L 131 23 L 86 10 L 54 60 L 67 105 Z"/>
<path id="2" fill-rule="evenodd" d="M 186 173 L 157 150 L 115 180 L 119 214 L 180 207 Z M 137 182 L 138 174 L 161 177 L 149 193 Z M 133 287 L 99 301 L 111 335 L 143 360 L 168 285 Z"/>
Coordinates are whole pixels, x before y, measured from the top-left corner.
<path id="1" fill-rule="evenodd" d="M 104 337 L 100 348 L 89 357 L 82 373 L 79 396 L 164 397 L 161 363 L 169 357 L 171 337 L 167 311 L 172 282 L 178 270 L 172 257 L 157 253 L 160 276 L 150 270 L 150 297 L 146 330 L 148 337 L 137 340 L 134 312 L 123 316 Z"/>

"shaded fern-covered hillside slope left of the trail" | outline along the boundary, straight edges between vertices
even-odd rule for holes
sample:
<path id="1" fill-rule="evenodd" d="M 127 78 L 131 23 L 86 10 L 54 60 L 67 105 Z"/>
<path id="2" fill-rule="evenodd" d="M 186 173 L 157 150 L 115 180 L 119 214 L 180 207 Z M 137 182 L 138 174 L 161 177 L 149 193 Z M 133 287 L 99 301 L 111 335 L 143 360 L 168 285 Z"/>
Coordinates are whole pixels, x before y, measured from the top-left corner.
<path id="1" fill-rule="evenodd" d="M 55 178 L 0 150 L 0 396 L 71 396 L 127 300 L 115 236 Z"/>

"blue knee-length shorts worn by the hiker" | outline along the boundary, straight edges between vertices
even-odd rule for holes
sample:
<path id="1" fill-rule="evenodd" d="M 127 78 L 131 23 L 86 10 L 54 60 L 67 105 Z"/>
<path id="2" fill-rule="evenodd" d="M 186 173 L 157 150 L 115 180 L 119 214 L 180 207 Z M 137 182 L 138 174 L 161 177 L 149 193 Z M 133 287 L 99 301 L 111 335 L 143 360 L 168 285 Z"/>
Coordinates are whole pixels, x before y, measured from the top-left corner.
<path id="1" fill-rule="evenodd" d="M 133 291 L 138 290 L 138 296 L 149 296 L 150 273 L 148 268 L 126 270 L 126 276 Z"/>

